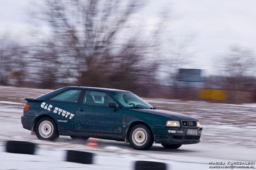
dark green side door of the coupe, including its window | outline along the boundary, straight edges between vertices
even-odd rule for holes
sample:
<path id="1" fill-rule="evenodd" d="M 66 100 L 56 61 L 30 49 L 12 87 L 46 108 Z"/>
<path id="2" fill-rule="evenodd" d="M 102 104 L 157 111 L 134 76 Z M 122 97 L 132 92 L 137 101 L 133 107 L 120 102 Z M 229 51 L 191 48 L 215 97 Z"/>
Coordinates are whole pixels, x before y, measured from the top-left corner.
<path id="1" fill-rule="evenodd" d="M 109 103 L 116 102 L 107 93 L 86 90 L 83 103 L 76 107 L 76 132 L 121 134 L 123 110 L 108 107 Z"/>

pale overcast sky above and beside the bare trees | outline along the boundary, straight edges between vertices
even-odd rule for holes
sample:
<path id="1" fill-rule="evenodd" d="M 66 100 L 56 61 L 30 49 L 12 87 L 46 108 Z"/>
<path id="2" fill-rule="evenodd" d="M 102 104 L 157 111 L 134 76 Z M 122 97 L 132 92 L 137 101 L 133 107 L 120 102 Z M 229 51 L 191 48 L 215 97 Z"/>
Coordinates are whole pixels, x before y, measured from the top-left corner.
<path id="1" fill-rule="evenodd" d="M 0 0 L 0 34 L 28 33 L 28 3 L 31 0 Z M 166 7 L 177 17 L 175 37 L 194 37 L 188 51 L 195 52 L 187 68 L 214 72 L 214 60 L 231 45 L 256 47 L 256 0 L 152 0 L 143 15 L 153 19 Z M 22 33 L 22 34 L 20 34 Z"/>

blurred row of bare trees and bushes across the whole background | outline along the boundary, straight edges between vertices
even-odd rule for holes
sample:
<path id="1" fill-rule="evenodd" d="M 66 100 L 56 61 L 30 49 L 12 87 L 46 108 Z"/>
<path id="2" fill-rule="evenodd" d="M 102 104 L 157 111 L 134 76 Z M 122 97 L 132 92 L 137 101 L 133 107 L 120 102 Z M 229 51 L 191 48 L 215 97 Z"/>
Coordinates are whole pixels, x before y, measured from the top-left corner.
<path id="1" fill-rule="evenodd" d="M 152 28 L 138 19 L 137 12 L 145 6 L 143 0 L 34 4 L 31 36 L 0 38 L 0 85 L 55 89 L 76 85 L 72 77 L 82 86 L 130 90 L 144 97 L 177 97 L 173 92 L 177 68 L 187 65 L 192 54 L 186 53 L 186 42 L 177 45 L 167 38 L 170 18 L 163 16 Z M 255 90 L 252 51 L 233 46 L 215 68 L 216 78 L 208 83 L 206 79 L 206 86 Z"/>

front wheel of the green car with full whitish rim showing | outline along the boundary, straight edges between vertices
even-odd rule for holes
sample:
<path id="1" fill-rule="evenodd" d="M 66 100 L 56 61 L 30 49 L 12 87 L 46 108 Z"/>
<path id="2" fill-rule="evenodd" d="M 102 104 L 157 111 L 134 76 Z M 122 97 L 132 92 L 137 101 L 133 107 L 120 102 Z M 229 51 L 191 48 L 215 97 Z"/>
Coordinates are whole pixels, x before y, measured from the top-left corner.
<path id="1" fill-rule="evenodd" d="M 130 146 L 137 150 L 149 149 L 154 138 L 151 129 L 147 125 L 137 124 L 133 126 L 129 132 Z"/>

